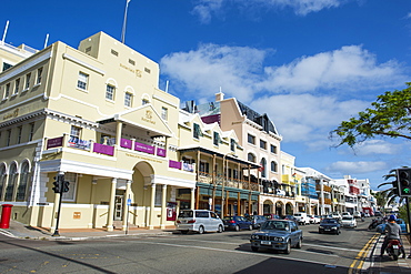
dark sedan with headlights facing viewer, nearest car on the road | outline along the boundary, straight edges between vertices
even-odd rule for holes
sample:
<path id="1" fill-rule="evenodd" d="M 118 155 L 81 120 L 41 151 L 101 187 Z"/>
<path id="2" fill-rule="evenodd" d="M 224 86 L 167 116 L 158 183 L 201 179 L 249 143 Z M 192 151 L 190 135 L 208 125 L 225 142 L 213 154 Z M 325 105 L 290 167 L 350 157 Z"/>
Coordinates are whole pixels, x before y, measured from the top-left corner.
<path id="1" fill-rule="evenodd" d="M 301 248 L 302 231 L 293 221 L 269 220 L 261 225 L 260 231 L 251 234 L 251 250 L 269 248 L 291 252 L 291 247 Z"/>

